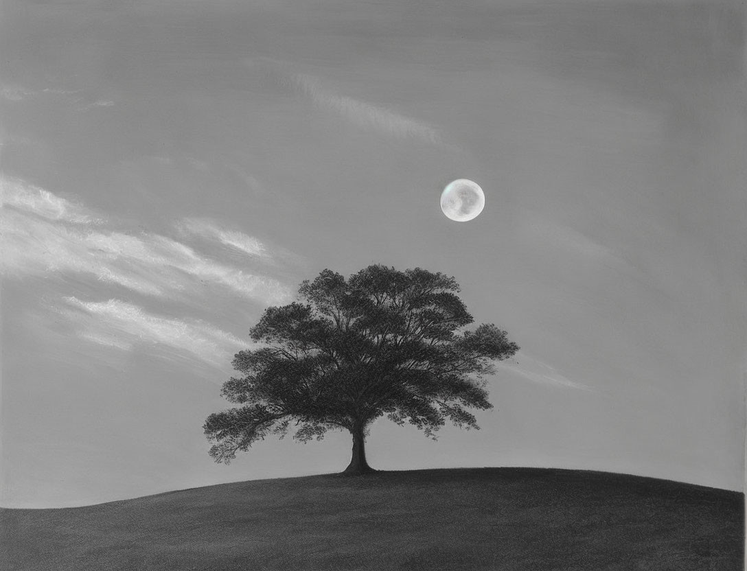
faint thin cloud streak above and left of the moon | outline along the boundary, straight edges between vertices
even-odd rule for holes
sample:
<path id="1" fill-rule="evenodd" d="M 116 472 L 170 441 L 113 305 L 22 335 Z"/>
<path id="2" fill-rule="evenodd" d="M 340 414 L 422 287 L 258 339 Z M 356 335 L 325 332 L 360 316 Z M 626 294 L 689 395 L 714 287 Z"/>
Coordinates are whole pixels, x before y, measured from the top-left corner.
<path id="1" fill-rule="evenodd" d="M 332 110 L 361 128 L 371 129 L 397 139 L 419 139 L 436 146 L 444 146 L 438 131 L 417 119 L 334 93 L 324 88 L 312 75 L 294 74 L 291 76 L 291 81 L 294 87 L 319 107 Z"/>

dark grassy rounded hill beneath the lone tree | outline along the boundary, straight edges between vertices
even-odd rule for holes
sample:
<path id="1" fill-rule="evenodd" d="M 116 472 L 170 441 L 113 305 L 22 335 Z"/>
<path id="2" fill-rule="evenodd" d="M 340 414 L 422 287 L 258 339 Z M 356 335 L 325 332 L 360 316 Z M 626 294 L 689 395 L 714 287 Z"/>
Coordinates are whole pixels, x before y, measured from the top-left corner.
<path id="1" fill-rule="evenodd" d="M 4 570 L 743 569 L 741 493 L 486 468 L 247 481 L 0 512 Z"/>

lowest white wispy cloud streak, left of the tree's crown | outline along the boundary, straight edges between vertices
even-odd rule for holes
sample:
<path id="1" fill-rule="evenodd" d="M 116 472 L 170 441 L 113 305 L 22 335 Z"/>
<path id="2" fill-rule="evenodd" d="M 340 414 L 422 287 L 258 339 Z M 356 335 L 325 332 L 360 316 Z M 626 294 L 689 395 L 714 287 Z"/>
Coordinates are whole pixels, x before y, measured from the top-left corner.
<path id="1" fill-rule="evenodd" d="M 75 326 L 78 337 L 123 351 L 135 346 L 165 346 L 199 361 L 225 366 L 235 351 L 248 344 L 202 320 L 158 316 L 120 299 L 84 302 L 68 296 L 63 302 L 65 306 L 58 308 L 58 313 Z"/>

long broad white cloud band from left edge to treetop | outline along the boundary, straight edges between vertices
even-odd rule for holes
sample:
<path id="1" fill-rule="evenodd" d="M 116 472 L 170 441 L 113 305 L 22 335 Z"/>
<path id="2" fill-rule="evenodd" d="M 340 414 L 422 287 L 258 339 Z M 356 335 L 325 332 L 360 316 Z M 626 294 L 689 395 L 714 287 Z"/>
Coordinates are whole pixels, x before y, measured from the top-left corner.
<path id="1" fill-rule="evenodd" d="M 213 260 L 160 234 L 117 231 L 83 206 L 5 182 L 3 202 L 10 208 L 1 212 L 1 263 L 7 275 L 79 273 L 148 296 L 202 296 L 205 285 L 214 285 L 266 305 L 290 296 L 275 278 Z"/>

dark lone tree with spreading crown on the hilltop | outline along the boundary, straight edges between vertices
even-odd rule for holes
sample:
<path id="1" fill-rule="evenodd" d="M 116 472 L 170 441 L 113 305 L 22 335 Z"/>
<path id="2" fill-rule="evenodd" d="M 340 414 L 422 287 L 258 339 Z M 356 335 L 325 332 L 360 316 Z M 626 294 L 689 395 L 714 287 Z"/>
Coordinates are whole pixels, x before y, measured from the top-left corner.
<path id="1" fill-rule="evenodd" d="M 303 442 L 344 428 L 353 435 L 344 473 L 361 474 L 373 471 L 367 427 L 384 414 L 429 436 L 447 419 L 479 428 L 466 409 L 492 408 L 483 377 L 518 346 L 495 325 L 465 331 L 473 319 L 458 292 L 441 273 L 381 265 L 303 281 L 300 301 L 267 308 L 251 329 L 261 348 L 235 355 L 241 375 L 221 393 L 241 406 L 208 416 L 210 455 L 228 464 L 291 422 Z"/>

